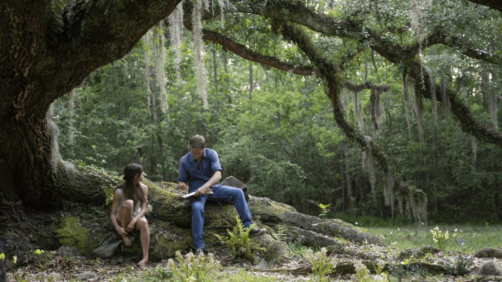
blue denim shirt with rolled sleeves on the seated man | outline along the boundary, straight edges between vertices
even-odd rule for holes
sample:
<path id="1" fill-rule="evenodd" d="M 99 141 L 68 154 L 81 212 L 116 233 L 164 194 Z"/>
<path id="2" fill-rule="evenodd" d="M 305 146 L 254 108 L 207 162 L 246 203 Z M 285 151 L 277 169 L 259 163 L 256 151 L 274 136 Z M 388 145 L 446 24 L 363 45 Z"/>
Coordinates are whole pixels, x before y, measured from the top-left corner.
<path id="1" fill-rule="evenodd" d="M 190 152 L 180 160 L 180 177 L 178 177 L 178 181 L 187 183 L 190 187 L 189 190 L 195 191 L 208 182 L 216 171 L 223 171 L 216 151 L 204 149 L 200 164 L 197 163 L 197 160 L 193 158 Z M 211 188 L 219 186 L 221 185 L 216 183 Z"/>

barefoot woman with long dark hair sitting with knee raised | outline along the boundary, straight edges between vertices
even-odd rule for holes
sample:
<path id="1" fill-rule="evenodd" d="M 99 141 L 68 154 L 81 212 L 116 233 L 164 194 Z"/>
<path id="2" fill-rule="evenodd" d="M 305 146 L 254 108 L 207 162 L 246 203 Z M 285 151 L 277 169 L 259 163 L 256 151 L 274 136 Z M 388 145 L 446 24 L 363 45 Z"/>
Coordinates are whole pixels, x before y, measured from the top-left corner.
<path id="1" fill-rule="evenodd" d="M 113 190 L 113 203 L 111 205 L 110 220 L 122 236 L 126 246 L 131 246 L 128 232 L 134 228 L 140 230 L 143 259 L 138 265 L 145 266 L 148 262 L 148 246 L 150 244 L 150 231 L 148 221 L 145 218 L 147 212 L 148 187 L 141 183 L 145 173 L 143 167 L 138 164 L 129 164 L 124 169 L 124 183 Z M 124 227 L 125 226 L 125 227 Z"/>

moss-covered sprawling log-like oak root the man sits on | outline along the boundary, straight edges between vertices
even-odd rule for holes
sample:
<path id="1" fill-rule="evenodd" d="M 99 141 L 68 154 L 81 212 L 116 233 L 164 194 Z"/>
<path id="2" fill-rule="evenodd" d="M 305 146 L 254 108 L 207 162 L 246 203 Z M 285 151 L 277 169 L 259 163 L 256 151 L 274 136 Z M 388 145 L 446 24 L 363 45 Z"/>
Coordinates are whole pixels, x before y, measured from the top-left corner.
<path id="1" fill-rule="evenodd" d="M 66 189 L 63 190 L 65 190 L 67 199 L 104 203 L 106 195 L 99 188 L 103 181 L 100 181 L 98 175 L 85 174 L 85 181 L 80 182 L 71 178 L 82 179 L 82 173 L 70 175 L 64 174 L 62 171 L 61 175 L 58 176 L 58 179 L 61 180 L 60 183 L 66 185 Z M 152 206 L 152 211 L 146 216 L 151 228 L 150 260 L 158 261 L 173 257 L 177 250 L 189 251 L 193 239 L 191 236 L 192 212 L 188 199 L 174 193 L 174 183 L 162 183 L 164 188 L 160 188 L 159 184 L 148 180 L 143 183 L 149 187 L 148 203 Z M 320 219 L 301 214 L 291 206 L 268 198 L 250 196 L 248 207 L 255 225 L 268 229 L 267 235 L 252 238 L 252 242 L 264 248 L 262 256 L 268 261 L 283 262 L 289 258 L 287 245 L 271 236 L 276 232 L 274 228 L 277 229 L 277 226 L 287 226 L 288 230 L 295 232 L 296 238 L 303 235 L 303 242 L 307 246 L 328 247 L 331 252 L 336 253 L 342 253 L 344 248 L 332 236 L 384 245 L 378 237 L 367 232 L 360 232 L 349 223 L 338 219 Z M 204 214 L 206 247 L 219 246 L 218 239 L 214 235 L 227 234 L 227 229 L 232 229 L 236 224 L 237 212 L 231 204 L 208 201 Z M 103 221 L 107 220 L 109 219 L 103 218 Z M 85 228 L 79 227 L 78 218 L 65 218 L 58 225 L 51 226 L 51 230 L 62 245 L 76 247 L 82 253 L 92 253 L 101 238 L 108 232 L 114 232 L 114 229 L 108 225 L 107 229 L 102 228 L 102 232 L 94 231 L 89 234 Z M 117 251 L 116 255 L 141 255 L 139 233 L 135 231 L 132 236 L 136 237 L 133 246 Z"/>

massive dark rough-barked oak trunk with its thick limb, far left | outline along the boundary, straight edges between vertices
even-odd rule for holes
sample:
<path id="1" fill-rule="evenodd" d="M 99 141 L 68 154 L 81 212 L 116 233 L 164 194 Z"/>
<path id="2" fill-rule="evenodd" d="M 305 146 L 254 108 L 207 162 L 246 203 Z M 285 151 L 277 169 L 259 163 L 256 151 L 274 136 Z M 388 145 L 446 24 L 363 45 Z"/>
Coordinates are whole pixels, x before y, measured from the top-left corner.
<path id="1" fill-rule="evenodd" d="M 79 1 L 71 12 L 64 12 L 57 28 L 48 24 L 52 9 L 48 1 L 2 2 L 2 202 L 22 200 L 26 206 L 50 208 L 63 199 L 55 186 L 56 168 L 49 160 L 45 114 L 50 104 L 80 85 L 95 69 L 129 53 L 143 34 L 166 18 L 179 2 Z"/>

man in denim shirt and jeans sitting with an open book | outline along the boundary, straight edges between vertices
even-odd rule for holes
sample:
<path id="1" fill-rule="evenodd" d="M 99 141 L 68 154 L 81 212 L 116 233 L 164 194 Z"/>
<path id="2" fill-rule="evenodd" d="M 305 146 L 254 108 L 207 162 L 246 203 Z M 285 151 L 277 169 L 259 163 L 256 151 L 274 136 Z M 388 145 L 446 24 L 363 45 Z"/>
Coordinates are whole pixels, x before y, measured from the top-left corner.
<path id="1" fill-rule="evenodd" d="M 241 189 L 222 186 L 218 184 L 221 179 L 221 165 L 218 154 L 211 149 L 206 149 L 206 140 L 200 135 L 190 138 L 190 153 L 180 160 L 180 177 L 178 185 L 180 190 L 189 189 L 188 192 L 195 194 L 190 197 L 192 207 L 192 236 L 193 248 L 197 255 L 204 253 L 204 204 L 206 200 L 217 202 L 232 202 L 239 214 L 244 227 L 249 228 L 253 224 L 251 214 L 247 208 L 244 193 Z M 188 185 L 190 187 L 187 186 Z M 212 194 L 207 194 L 212 191 Z M 249 231 L 249 237 L 265 233 L 266 229 L 253 227 Z"/>

